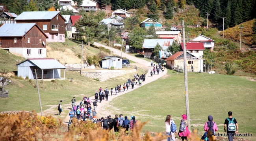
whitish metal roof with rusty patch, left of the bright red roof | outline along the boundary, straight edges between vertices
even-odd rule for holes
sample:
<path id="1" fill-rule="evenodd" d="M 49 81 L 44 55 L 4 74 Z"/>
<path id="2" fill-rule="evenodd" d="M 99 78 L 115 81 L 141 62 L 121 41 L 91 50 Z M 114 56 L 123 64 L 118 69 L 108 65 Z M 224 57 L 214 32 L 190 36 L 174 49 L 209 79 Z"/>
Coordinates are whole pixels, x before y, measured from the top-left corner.
<path id="1" fill-rule="evenodd" d="M 173 44 L 173 39 L 145 39 L 142 48 L 155 48 L 157 43 L 159 43 L 164 50 L 164 48 Z"/>

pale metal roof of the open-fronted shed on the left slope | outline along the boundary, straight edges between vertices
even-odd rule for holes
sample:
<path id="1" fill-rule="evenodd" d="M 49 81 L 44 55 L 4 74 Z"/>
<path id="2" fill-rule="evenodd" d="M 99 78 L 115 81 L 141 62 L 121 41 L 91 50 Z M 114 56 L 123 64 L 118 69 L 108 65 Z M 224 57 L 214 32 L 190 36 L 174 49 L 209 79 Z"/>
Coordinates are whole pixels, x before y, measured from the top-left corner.
<path id="1" fill-rule="evenodd" d="M 30 61 L 33 64 L 35 64 L 37 67 L 39 67 L 40 69 L 66 69 L 66 67 L 64 65 L 62 65 L 61 63 L 59 63 L 57 60 L 55 59 L 27 59 L 25 61 Z M 25 61 L 22 61 L 16 65 L 19 65 Z"/>

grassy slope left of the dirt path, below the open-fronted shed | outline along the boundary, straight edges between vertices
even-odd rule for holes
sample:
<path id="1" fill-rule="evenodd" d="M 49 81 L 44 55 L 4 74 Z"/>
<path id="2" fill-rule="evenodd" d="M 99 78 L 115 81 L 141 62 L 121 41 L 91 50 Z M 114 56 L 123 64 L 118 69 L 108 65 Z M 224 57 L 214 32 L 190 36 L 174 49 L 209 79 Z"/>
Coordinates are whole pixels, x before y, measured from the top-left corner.
<path id="1" fill-rule="evenodd" d="M 143 69 L 138 69 L 139 74 L 144 73 Z M 55 80 L 51 81 L 41 81 L 39 80 L 40 96 L 43 110 L 48 109 L 52 105 L 58 106 L 60 100 L 64 104 L 70 104 L 71 99 L 76 97 L 77 103 L 86 96 L 93 96 L 95 90 L 100 87 L 103 89 L 108 87 L 115 88 L 117 84 L 123 84 L 129 78 L 133 77 L 134 73 L 126 74 L 116 78 L 111 78 L 107 81 L 96 81 L 87 77 L 81 77 L 79 72 L 66 71 L 66 80 Z M 61 71 L 61 76 L 63 77 L 63 71 Z M 72 81 L 71 81 L 72 78 Z M 6 85 L 5 89 L 9 90 L 9 98 L 0 99 L 0 111 L 9 110 L 36 110 L 40 112 L 39 99 L 36 88 L 36 81 L 32 80 L 30 83 L 28 80 L 16 80 L 11 78 L 10 85 Z M 34 87 L 35 86 L 35 87 Z M 57 113 L 57 108 L 54 109 Z M 63 109 L 66 112 L 66 109 Z M 64 114 L 63 113 L 63 114 Z"/>

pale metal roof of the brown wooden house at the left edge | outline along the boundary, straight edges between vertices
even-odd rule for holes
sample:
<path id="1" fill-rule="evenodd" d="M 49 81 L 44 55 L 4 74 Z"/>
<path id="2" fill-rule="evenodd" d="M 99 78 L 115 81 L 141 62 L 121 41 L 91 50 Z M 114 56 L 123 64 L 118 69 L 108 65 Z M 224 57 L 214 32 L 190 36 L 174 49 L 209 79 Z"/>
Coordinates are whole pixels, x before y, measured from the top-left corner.
<path id="1" fill-rule="evenodd" d="M 24 24 L 3 24 L 0 27 L 0 37 L 23 37 L 25 35 L 25 31 L 27 29 L 30 31 L 32 27 L 37 26 L 35 23 L 24 23 Z M 40 27 L 37 26 L 39 30 L 45 34 Z M 46 38 L 48 36 L 45 34 Z"/>

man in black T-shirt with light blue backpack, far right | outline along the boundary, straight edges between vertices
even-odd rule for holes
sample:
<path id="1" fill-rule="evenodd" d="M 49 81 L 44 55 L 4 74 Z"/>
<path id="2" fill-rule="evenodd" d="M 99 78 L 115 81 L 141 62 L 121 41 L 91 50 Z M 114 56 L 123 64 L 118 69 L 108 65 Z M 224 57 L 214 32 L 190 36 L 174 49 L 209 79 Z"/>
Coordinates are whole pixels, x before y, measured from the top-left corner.
<path id="1" fill-rule="evenodd" d="M 228 118 L 224 122 L 224 132 L 228 134 L 228 141 L 233 141 L 235 134 L 238 134 L 238 124 L 236 119 L 232 117 L 231 111 L 228 112 Z"/>

